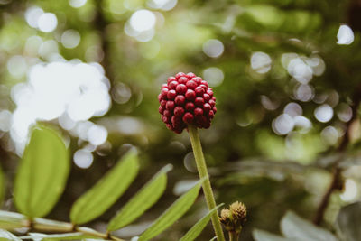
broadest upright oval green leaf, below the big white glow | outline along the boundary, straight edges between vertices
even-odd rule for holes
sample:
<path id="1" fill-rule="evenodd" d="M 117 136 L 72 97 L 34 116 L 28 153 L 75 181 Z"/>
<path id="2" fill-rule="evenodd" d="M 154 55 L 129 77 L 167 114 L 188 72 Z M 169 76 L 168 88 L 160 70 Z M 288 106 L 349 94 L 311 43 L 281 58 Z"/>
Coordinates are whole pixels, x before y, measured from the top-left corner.
<path id="1" fill-rule="evenodd" d="M 64 190 L 69 167 L 60 135 L 44 126 L 33 128 L 15 178 L 16 208 L 30 218 L 47 215 Z"/>

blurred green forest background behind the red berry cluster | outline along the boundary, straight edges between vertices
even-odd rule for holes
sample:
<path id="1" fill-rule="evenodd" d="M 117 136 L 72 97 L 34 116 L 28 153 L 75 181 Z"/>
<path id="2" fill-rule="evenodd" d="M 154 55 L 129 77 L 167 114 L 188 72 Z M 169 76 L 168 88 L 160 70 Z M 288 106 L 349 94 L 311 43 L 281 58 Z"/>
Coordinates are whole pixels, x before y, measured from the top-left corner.
<path id="1" fill-rule="evenodd" d="M 183 0 L 168 1 L 176 5 L 164 10 L 162 1 L 155 0 L 88 0 L 72 6 L 81 2 L 0 1 L 1 110 L 14 112 L 14 87 L 27 81 L 32 65 L 53 61 L 54 54 L 65 60 L 99 62 L 111 84 L 110 110 L 91 119 L 106 127 L 107 142 L 92 151 L 94 162 L 88 169 L 72 164 L 67 189 L 50 218 L 67 220 L 64 214 L 71 204 L 115 164 L 129 144 L 141 150 L 140 178 L 114 208 L 92 223 L 94 227 L 113 217 L 119 205 L 166 163 L 175 166 L 171 184 L 196 179 L 187 134 L 167 130 L 157 111 L 162 83 L 178 71 L 203 76 L 214 89 L 218 113 L 210 129 L 201 131 L 202 144 L 218 203 L 240 200 L 249 209 L 243 240 L 252 240 L 255 227 L 279 232 L 279 221 L 288 209 L 303 218 L 314 216 L 331 180 L 333 162 L 325 158 L 337 155 L 346 135 L 345 189 L 331 196 L 326 226 L 334 223 L 338 209 L 360 199 L 357 109 L 351 111 L 352 124 L 347 125 L 355 97 L 361 96 L 357 1 Z M 29 25 L 25 16 L 33 6 L 56 15 L 54 31 Z M 131 36 L 129 30 L 131 17 L 141 9 L 155 16 L 153 37 L 145 41 Z M 353 30 L 350 44 L 337 43 L 344 23 Z M 69 49 L 61 39 L 70 29 L 79 32 L 80 41 Z M 209 40 L 221 42 L 224 49 L 218 57 L 207 51 Z M 209 46 L 219 51 L 219 45 Z M 22 56 L 25 64 L 10 61 L 14 56 Z M 327 108 L 322 112 L 319 107 Z M 288 116 L 281 118 L 283 114 Z M 59 126 L 57 120 L 51 123 Z M 19 158 L 9 128 L 1 125 L 0 129 L 1 164 L 12 178 Z M 72 154 L 88 144 L 59 129 L 68 136 Z M 162 202 L 134 228 L 142 229 L 158 217 L 174 195 L 168 188 Z M 6 200 L 10 197 L 7 191 Z M 5 201 L 4 209 L 13 210 L 14 203 Z M 202 216 L 201 209 L 193 209 L 191 222 L 177 224 L 162 240 L 179 239 Z M 208 228 L 201 240 L 212 237 Z M 135 235 L 129 229 L 122 234 Z"/>

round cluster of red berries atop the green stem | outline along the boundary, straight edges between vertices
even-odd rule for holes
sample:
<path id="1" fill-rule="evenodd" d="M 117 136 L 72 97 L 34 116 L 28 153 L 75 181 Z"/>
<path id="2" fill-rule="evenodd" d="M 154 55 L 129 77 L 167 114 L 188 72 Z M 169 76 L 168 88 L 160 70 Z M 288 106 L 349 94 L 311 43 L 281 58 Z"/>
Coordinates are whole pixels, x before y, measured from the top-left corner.
<path id="1" fill-rule="evenodd" d="M 159 113 L 167 127 L 180 134 L 187 125 L 208 128 L 217 112 L 216 97 L 208 82 L 193 73 L 168 78 L 158 96 Z"/>

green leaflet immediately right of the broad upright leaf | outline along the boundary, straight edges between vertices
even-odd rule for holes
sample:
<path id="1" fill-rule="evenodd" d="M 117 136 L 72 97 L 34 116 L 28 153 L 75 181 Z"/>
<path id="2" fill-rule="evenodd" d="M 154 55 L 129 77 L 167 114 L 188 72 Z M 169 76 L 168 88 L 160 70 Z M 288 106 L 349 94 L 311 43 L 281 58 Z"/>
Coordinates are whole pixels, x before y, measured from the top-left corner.
<path id="1" fill-rule="evenodd" d="M 131 150 L 102 180 L 74 203 L 70 211 L 71 222 L 84 224 L 102 215 L 134 181 L 138 170 L 137 153 Z"/>

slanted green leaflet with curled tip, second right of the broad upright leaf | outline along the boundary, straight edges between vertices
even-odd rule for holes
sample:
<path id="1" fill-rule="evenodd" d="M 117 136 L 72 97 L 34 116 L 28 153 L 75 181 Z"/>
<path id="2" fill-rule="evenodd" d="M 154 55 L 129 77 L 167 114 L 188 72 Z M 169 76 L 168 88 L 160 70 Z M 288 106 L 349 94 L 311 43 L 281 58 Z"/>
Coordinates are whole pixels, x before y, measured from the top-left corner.
<path id="1" fill-rule="evenodd" d="M 162 168 L 151 181 L 148 181 L 143 189 L 139 190 L 134 198 L 130 199 L 123 209 L 116 214 L 116 217 L 110 221 L 107 230 L 114 231 L 121 227 L 125 227 L 136 218 L 139 218 L 147 209 L 150 209 L 154 203 L 161 198 L 167 186 L 166 173 L 168 171 L 171 171 L 171 165 Z"/>

